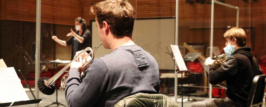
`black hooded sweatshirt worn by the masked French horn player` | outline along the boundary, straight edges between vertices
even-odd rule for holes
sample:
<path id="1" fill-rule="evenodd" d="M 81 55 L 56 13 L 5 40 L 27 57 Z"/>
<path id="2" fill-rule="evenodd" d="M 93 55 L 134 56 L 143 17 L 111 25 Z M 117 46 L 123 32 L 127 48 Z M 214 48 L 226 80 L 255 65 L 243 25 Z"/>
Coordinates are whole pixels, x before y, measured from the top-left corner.
<path id="1" fill-rule="evenodd" d="M 238 107 L 246 107 L 252 80 L 256 75 L 262 74 L 250 47 L 235 50 L 216 71 L 212 65 L 207 65 L 206 71 L 208 69 L 209 82 L 212 85 L 226 80 L 226 94 Z"/>

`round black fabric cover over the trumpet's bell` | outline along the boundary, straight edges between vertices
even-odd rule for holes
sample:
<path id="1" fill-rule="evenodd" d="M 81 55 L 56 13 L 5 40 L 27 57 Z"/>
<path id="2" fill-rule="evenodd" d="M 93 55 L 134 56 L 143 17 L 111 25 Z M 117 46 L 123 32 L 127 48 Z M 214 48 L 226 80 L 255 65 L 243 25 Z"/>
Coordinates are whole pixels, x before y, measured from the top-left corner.
<path id="1" fill-rule="evenodd" d="M 55 92 L 55 87 L 45 85 L 45 81 L 48 81 L 48 77 L 41 77 L 38 80 L 38 88 L 39 90 L 44 93 L 45 95 L 52 95 Z"/>

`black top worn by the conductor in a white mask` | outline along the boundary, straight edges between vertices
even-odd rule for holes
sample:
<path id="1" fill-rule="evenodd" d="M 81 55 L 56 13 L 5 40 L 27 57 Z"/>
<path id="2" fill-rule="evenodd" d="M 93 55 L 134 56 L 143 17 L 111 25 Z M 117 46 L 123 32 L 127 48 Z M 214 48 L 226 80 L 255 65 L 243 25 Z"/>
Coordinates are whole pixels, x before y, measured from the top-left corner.
<path id="1" fill-rule="evenodd" d="M 79 35 L 79 31 L 76 31 L 75 33 Z M 83 50 L 86 47 L 91 47 L 91 43 L 92 43 L 91 42 L 91 38 L 92 38 L 92 36 L 91 36 L 91 33 L 90 33 L 90 31 L 88 29 L 83 30 L 83 32 L 81 34 L 81 37 L 84 39 L 84 41 L 83 41 L 83 43 L 78 43 L 77 51 Z M 73 45 L 73 43 L 74 43 L 73 40 L 74 40 L 73 36 L 71 36 L 70 38 L 68 38 L 66 40 L 66 45 L 67 46 L 68 45 L 72 45 L 71 60 L 73 59 L 73 57 L 75 56 L 75 53 L 76 53 L 76 51 L 74 51 L 75 47 Z"/>

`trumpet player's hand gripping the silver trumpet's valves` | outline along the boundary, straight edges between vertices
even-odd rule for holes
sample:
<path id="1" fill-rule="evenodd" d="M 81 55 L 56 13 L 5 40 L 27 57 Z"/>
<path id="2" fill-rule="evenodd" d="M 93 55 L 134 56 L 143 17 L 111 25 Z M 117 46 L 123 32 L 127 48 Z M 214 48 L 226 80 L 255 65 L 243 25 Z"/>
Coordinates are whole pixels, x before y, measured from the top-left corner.
<path id="1" fill-rule="evenodd" d="M 77 52 L 76 52 L 76 55 L 75 55 L 74 57 L 78 56 L 79 53 L 81 53 L 82 51 L 83 51 L 83 50 L 77 51 Z M 80 69 L 80 68 L 84 65 L 84 63 L 86 63 L 87 61 L 89 61 L 89 60 L 91 59 L 90 56 L 88 56 L 87 58 L 85 58 L 86 55 L 88 55 L 88 53 L 87 53 L 87 52 L 84 52 L 84 53 L 80 56 L 79 61 L 78 61 L 78 60 L 75 60 L 75 61 L 72 62 L 72 64 L 70 65 L 70 68 L 77 68 L 77 69 Z"/>

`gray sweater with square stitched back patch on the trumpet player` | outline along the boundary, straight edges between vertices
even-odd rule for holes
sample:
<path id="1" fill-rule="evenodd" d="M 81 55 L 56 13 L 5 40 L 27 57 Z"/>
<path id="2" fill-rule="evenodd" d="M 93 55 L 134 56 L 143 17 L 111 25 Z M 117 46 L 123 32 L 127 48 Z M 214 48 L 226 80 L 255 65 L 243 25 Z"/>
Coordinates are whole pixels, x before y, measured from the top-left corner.
<path id="1" fill-rule="evenodd" d="M 69 73 L 65 90 L 69 107 L 113 107 L 126 96 L 160 89 L 156 60 L 137 45 L 118 47 L 93 60 L 83 80 L 78 69 Z"/>

